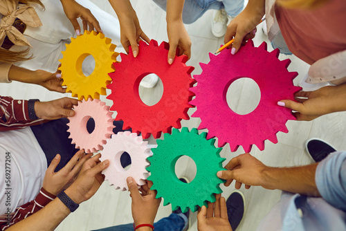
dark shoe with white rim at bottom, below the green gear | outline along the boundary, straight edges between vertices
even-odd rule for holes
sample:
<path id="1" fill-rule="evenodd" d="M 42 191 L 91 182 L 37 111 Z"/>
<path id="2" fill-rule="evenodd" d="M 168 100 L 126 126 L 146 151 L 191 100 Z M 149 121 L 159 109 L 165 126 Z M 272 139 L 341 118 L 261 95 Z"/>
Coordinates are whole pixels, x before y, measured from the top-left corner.
<path id="1" fill-rule="evenodd" d="M 232 230 L 236 230 L 245 213 L 245 197 L 240 191 L 233 191 L 226 201 L 228 221 Z"/>

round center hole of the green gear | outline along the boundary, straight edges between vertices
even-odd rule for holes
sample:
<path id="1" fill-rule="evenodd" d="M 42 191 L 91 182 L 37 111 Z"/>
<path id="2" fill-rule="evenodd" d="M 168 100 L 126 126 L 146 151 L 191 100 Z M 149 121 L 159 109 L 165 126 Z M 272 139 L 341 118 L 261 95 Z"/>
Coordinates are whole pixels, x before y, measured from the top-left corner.
<path id="1" fill-rule="evenodd" d="M 191 183 L 196 177 L 197 165 L 190 156 L 180 156 L 174 165 L 174 173 L 176 178 L 179 179 L 184 176 L 187 177 Z"/>

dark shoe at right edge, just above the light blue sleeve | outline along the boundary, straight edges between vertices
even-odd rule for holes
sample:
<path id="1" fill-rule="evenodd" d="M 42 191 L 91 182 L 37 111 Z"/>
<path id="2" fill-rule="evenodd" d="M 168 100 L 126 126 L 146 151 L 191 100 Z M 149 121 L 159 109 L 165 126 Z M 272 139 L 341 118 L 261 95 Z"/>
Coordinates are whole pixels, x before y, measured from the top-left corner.
<path id="1" fill-rule="evenodd" d="M 315 160 L 315 162 L 320 162 L 326 158 L 329 154 L 336 151 L 334 147 L 318 138 L 311 138 L 305 142 L 305 149 L 307 153 Z"/>

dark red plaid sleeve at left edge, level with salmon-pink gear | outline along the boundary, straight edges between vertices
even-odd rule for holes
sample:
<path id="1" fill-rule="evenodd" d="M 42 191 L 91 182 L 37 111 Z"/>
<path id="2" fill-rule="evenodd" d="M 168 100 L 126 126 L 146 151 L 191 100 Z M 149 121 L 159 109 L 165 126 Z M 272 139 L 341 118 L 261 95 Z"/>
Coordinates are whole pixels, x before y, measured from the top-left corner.
<path id="1" fill-rule="evenodd" d="M 28 100 L 13 100 L 0 96 L 0 131 L 20 129 L 42 123 L 42 120 L 30 120 Z"/>

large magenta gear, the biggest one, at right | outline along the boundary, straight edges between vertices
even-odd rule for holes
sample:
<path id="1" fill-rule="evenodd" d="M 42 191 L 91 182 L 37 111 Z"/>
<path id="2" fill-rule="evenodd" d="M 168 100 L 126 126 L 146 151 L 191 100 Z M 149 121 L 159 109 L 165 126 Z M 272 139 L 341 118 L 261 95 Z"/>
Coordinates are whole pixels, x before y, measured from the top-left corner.
<path id="1" fill-rule="evenodd" d="M 262 151 L 267 139 L 277 143 L 276 133 L 287 133 L 287 120 L 295 120 L 290 109 L 277 106 L 280 100 L 294 100 L 293 93 L 300 90 L 293 85 L 298 73 L 287 71 L 291 60 L 280 61 L 278 49 L 269 53 L 266 42 L 256 48 L 252 40 L 236 55 L 223 50 L 217 56 L 209 56 L 208 64 L 200 64 L 201 75 L 194 75 L 197 86 L 190 89 L 196 94 L 190 104 L 197 107 L 192 117 L 201 118 L 199 129 L 208 129 L 207 139 L 216 136 L 219 147 L 228 142 L 231 151 L 237 151 L 239 145 L 246 152 L 251 151 L 252 145 Z M 226 101 L 228 87 L 242 77 L 254 80 L 261 91 L 260 103 L 247 115 L 235 113 Z"/>

